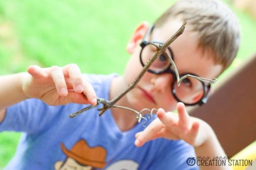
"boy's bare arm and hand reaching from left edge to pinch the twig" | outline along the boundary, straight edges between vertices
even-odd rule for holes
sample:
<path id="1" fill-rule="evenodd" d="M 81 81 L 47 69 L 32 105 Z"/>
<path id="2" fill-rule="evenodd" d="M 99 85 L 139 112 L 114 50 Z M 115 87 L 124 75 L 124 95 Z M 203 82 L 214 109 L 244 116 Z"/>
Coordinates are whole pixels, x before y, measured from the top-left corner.
<path id="1" fill-rule="evenodd" d="M 38 98 L 49 105 L 96 104 L 95 91 L 82 78 L 76 64 L 50 68 L 30 66 L 28 72 L 0 76 L 0 84 L 0 122 L 7 107 L 28 98 Z"/>

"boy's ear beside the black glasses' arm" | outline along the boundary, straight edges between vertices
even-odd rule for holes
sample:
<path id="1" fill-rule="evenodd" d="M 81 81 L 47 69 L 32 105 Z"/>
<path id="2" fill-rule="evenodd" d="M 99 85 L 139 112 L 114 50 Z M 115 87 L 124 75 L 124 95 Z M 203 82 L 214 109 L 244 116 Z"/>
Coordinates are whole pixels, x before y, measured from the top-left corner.
<path id="1" fill-rule="evenodd" d="M 148 22 L 142 22 L 137 26 L 134 33 L 132 34 L 132 37 L 130 38 L 130 41 L 128 42 L 126 46 L 126 50 L 129 54 L 132 54 L 134 52 L 134 49 L 141 43 L 141 40 L 145 33 L 148 30 Z"/>

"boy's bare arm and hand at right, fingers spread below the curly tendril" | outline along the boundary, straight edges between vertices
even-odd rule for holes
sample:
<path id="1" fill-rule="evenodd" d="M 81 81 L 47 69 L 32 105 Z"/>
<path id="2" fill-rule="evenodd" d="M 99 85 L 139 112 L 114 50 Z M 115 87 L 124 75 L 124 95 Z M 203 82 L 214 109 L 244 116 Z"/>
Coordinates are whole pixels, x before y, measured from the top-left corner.
<path id="1" fill-rule="evenodd" d="M 178 103 L 177 110 L 178 114 L 174 114 L 159 109 L 159 119 L 155 119 L 144 131 L 135 135 L 135 145 L 142 146 L 145 142 L 159 137 L 182 139 L 194 146 L 197 156 L 226 156 L 210 125 L 201 119 L 190 117 L 183 103 Z M 200 169 L 230 170 L 230 167 L 200 166 Z"/>

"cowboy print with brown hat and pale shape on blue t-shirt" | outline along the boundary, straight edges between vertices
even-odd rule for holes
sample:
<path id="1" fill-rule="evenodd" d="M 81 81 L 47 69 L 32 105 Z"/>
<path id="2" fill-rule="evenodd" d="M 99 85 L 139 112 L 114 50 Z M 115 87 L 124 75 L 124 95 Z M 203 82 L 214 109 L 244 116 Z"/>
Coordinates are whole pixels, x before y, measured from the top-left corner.
<path id="1" fill-rule="evenodd" d="M 107 151 L 101 146 L 90 147 L 86 141 L 81 139 L 71 150 L 68 150 L 63 143 L 61 143 L 61 150 L 67 156 L 65 161 L 56 161 L 54 164 L 55 170 L 95 170 L 102 169 L 106 166 Z M 133 160 L 120 160 L 108 166 L 106 170 L 136 170 L 138 163 Z M 128 170 L 127 169 L 127 170 Z"/>

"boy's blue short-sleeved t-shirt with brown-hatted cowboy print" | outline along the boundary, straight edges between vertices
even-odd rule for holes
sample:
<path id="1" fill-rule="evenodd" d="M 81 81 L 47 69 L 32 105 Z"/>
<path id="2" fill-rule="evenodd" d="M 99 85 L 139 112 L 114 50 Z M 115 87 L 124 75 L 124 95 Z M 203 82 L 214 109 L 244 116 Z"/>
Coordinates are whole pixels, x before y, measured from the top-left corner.
<path id="1" fill-rule="evenodd" d="M 111 80 L 117 75 L 85 76 L 96 95 L 108 99 Z M 195 152 L 182 140 L 161 138 L 136 147 L 135 133 L 144 129 L 142 124 L 122 132 L 110 109 L 101 117 L 94 108 L 69 118 L 69 114 L 84 107 L 74 103 L 49 106 L 39 99 L 28 99 L 7 108 L 0 131 L 23 133 L 6 170 L 198 169 L 187 165 L 187 159 L 195 157 Z"/>

